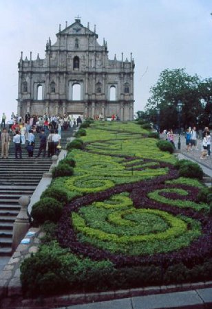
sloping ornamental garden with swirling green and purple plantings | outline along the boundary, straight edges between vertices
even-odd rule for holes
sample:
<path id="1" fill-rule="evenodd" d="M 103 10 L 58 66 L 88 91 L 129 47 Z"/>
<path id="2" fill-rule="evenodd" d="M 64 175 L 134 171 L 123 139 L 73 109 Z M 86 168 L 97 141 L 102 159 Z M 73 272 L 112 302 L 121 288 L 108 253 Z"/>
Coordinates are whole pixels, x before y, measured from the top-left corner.
<path id="1" fill-rule="evenodd" d="M 212 191 L 139 122 L 84 122 L 32 207 L 29 297 L 211 279 Z M 168 150 L 168 151 L 164 151 Z"/>

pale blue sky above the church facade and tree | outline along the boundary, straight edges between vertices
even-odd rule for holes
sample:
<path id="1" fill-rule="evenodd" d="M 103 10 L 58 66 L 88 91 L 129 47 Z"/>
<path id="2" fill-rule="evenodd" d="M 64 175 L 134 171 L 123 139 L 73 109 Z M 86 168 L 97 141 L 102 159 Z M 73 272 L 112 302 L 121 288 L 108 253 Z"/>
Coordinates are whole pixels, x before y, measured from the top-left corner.
<path id="1" fill-rule="evenodd" d="M 161 71 L 184 68 L 190 75 L 212 77 L 211 0 L 0 0 L 0 121 L 17 113 L 18 67 L 21 51 L 45 58 L 50 37 L 74 23 L 107 41 L 109 59 L 135 61 L 134 113 L 142 111 Z"/>

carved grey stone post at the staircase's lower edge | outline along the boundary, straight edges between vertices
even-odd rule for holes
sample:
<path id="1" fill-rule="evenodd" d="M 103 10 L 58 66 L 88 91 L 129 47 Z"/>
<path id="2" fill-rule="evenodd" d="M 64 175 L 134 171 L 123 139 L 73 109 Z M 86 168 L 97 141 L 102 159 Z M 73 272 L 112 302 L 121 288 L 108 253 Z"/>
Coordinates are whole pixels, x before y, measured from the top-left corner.
<path id="1" fill-rule="evenodd" d="M 17 249 L 18 245 L 20 244 L 21 240 L 23 239 L 30 227 L 29 217 L 27 213 L 29 203 L 30 196 L 21 196 L 19 198 L 19 204 L 21 205 L 21 209 L 13 224 L 12 252 Z"/>

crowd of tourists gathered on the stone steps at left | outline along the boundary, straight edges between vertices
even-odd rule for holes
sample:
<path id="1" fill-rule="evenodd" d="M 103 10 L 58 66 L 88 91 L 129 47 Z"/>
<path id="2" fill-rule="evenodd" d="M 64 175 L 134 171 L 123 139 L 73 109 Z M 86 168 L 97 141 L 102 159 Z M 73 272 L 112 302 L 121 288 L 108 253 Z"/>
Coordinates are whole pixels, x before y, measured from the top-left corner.
<path id="1" fill-rule="evenodd" d="M 30 115 L 26 113 L 24 119 L 12 113 L 8 122 L 3 113 L 1 118 L 1 158 L 7 159 L 10 141 L 14 143 L 14 157 L 22 158 L 22 146 L 25 145 L 28 157 L 34 156 L 35 135 L 39 135 L 39 152 L 36 157 L 52 157 L 59 155 L 61 148 L 61 132 L 67 128 L 79 126 L 83 122 L 81 116 L 74 118 L 73 115 Z"/>

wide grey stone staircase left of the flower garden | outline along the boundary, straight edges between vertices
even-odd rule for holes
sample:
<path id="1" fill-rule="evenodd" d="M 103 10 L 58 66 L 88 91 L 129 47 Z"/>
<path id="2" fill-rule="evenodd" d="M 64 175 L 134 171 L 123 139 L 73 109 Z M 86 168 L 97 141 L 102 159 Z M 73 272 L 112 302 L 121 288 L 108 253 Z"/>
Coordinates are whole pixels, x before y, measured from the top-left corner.
<path id="1" fill-rule="evenodd" d="M 62 149 L 65 149 L 67 137 L 71 136 L 72 128 L 62 131 Z M 0 256 L 12 254 L 12 228 L 14 220 L 19 214 L 20 196 L 32 196 L 43 173 L 47 172 L 52 164 L 52 159 L 48 157 L 36 159 L 38 150 L 39 134 L 35 134 L 34 157 L 32 159 L 28 158 L 28 152 L 24 145 L 22 145 L 23 159 L 14 159 L 12 141 L 10 142 L 9 158 L 0 159 Z M 43 153 L 41 153 L 42 155 Z"/>

